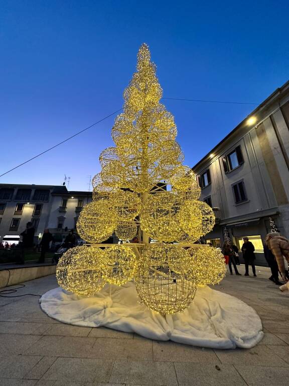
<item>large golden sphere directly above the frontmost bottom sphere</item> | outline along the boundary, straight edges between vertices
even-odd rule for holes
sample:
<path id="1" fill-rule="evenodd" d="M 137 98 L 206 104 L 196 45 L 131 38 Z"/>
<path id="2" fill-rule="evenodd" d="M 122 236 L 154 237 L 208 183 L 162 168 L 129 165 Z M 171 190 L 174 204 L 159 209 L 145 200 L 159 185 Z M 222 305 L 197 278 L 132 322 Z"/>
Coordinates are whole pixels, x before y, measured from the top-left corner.
<path id="1" fill-rule="evenodd" d="M 141 229 L 158 241 L 178 240 L 184 233 L 183 224 L 189 221 L 187 208 L 183 208 L 178 195 L 169 191 L 149 195 L 140 211 Z"/>

